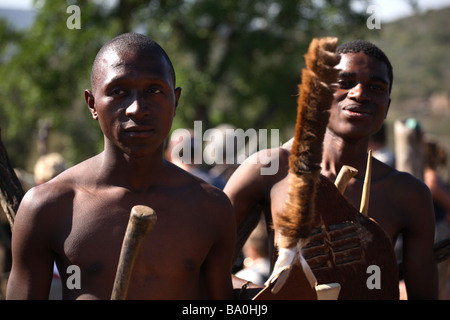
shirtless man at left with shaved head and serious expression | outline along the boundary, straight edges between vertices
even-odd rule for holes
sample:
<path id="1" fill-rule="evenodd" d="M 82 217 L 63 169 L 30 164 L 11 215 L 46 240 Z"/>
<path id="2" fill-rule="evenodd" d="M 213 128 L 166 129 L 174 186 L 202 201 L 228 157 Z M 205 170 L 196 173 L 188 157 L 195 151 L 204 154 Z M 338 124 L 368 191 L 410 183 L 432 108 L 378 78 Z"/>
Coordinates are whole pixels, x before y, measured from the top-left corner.
<path id="1" fill-rule="evenodd" d="M 218 189 L 163 159 L 181 88 L 163 49 L 124 34 L 98 53 L 85 98 L 100 154 L 24 197 L 13 230 L 7 299 L 47 299 L 53 261 L 64 299 L 109 299 L 134 205 L 158 221 L 136 259 L 129 299 L 230 299 L 235 224 Z M 80 289 L 65 284 L 76 265 Z"/>

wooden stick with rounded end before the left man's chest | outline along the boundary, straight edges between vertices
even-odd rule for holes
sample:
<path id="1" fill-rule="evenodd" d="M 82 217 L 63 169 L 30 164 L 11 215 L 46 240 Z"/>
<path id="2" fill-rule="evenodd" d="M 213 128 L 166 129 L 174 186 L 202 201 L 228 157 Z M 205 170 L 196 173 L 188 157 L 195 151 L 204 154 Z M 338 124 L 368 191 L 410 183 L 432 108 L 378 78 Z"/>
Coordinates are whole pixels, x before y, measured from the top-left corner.
<path id="1" fill-rule="evenodd" d="M 130 219 L 120 251 L 111 300 L 125 300 L 134 261 L 142 242 L 153 229 L 155 223 L 156 213 L 152 208 L 137 205 L 131 209 Z"/>

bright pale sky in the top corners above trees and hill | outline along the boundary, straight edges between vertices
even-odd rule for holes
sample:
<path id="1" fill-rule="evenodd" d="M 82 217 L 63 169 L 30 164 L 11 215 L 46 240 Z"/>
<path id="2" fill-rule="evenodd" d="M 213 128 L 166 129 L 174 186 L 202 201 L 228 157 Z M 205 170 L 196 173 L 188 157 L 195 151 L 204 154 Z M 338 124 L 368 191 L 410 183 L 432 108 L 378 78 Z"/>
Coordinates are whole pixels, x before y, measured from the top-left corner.
<path id="1" fill-rule="evenodd" d="M 362 8 L 361 5 L 358 6 L 358 0 L 355 0 L 354 3 L 356 8 L 365 11 L 365 8 Z M 407 0 L 372 0 L 370 1 L 370 4 L 379 6 L 381 9 L 381 19 L 383 22 L 390 22 L 412 14 L 411 7 L 409 6 Z M 30 9 L 32 8 L 32 5 L 33 0 L 0 0 L 0 9 Z M 450 7 L 450 0 L 418 0 L 418 5 L 421 11 L 439 9 L 443 7 Z"/>

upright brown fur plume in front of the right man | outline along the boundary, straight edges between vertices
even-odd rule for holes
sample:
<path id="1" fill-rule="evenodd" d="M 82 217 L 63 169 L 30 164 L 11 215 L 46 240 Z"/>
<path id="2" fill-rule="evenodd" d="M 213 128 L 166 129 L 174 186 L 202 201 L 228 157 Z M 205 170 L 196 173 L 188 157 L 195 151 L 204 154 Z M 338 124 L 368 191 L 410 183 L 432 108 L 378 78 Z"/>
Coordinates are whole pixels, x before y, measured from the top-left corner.
<path id="1" fill-rule="evenodd" d="M 333 102 L 331 84 L 336 82 L 340 56 L 335 53 L 337 38 L 313 39 L 305 54 L 297 123 L 289 158 L 289 191 L 284 212 L 279 217 L 278 246 L 294 247 L 308 237 L 314 219 L 316 183 L 320 174 L 322 143 Z"/>

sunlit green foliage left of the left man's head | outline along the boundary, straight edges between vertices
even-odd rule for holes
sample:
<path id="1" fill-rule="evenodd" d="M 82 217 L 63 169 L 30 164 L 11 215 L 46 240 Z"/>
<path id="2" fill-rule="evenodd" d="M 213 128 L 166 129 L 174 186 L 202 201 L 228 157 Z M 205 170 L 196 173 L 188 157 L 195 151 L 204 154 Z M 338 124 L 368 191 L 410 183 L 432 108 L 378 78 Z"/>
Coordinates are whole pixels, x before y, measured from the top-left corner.
<path id="1" fill-rule="evenodd" d="M 79 1 L 79 5 L 84 8 L 84 31 L 67 28 L 67 3 L 46 1 L 33 26 L 8 39 L 13 54 L 1 63 L 0 76 L 8 81 L 0 84 L 4 93 L 0 125 L 15 166 L 31 169 L 40 119 L 52 123 L 50 143 L 55 145 L 50 148 L 58 149 L 70 162 L 98 150 L 100 132 L 89 117 L 83 91 L 89 88 L 96 51 L 119 28 L 105 23 L 106 14 L 91 1 Z"/>

